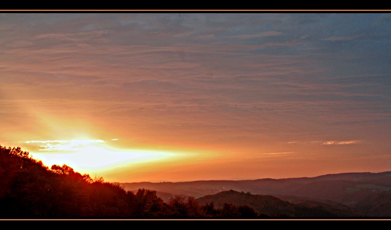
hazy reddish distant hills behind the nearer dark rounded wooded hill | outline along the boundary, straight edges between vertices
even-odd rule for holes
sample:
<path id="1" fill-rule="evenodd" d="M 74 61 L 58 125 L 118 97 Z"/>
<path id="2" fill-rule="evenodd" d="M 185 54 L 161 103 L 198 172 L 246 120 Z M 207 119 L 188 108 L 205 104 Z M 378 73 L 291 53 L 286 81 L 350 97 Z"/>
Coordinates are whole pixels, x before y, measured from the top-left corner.
<path id="1" fill-rule="evenodd" d="M 234 190 L 255 195 L 278 196 L 284 200 L 295 201 L 297 204 L 301 200 L 309 207 L 319 202 L 319 205 L 328 207 L 328 210 L 335 209 L 340 214 L 391 216 L 391 171 L 338 173 L 286 179 L 140 182 L 122 183 L 121 186 L 126 190 L 146 188 L 173 195 L 194 196 L 199 199 Z M 169 198 L 166 195 L 163 199 Z"/>

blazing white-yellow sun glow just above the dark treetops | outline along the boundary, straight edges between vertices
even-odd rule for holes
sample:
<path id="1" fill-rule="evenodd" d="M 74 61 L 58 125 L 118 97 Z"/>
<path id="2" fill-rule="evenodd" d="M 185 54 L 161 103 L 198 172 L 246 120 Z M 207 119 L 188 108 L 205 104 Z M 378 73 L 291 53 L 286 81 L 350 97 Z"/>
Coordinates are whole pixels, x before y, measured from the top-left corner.
<path id="1" fill-rule="evenodd" d="M 140 162 L 151 162 L 175 157 L 176 154 L 152 150 L 118 149 L 103 140 L 27 141 L 39 145 L 30 151 L 46 166 L 66 164 L 81 172 L 107 170 Z"/>

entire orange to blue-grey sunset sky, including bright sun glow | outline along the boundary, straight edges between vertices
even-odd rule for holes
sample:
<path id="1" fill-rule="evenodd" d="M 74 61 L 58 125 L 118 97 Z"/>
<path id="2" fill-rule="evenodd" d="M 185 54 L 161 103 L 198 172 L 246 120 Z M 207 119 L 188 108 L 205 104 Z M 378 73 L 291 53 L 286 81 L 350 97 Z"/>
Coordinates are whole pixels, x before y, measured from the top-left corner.
<path id="1" fill-rule="evenodd" d="M 391 14 L 2 13 L 0 146 L 110 182 L 391 170 Z"/>

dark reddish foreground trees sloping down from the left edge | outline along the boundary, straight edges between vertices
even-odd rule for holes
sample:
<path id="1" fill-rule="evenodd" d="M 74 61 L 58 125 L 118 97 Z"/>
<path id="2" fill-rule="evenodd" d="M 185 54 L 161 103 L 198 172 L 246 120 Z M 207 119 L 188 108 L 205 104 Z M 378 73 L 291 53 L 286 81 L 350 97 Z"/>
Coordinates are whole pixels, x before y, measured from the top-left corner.
<path id="1" fill-rule="evenodd" d="M 8 218 L 262 218 L 251 207 L 199 204 L 193 196 L 168 202 L 156 191 L 126 191 L 63 165 L 44 166 L 20 147 L 0 146 L 0 215 Z"/>

